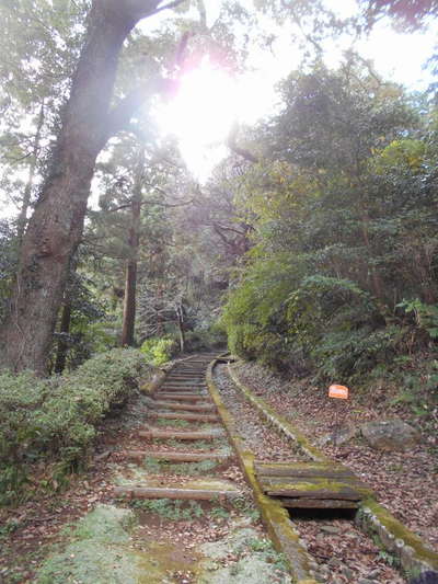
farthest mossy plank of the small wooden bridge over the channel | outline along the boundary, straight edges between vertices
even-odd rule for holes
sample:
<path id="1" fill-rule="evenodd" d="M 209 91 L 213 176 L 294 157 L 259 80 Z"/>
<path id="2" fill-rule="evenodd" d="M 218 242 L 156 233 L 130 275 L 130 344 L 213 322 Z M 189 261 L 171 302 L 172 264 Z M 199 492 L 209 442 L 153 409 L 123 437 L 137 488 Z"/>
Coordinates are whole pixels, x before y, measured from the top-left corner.
<path id="1" fill-rule="evenodd" d="M 327 462 L 254 462 L 254 470 L 257 477 L 355 477 L 349 468 Z"/>

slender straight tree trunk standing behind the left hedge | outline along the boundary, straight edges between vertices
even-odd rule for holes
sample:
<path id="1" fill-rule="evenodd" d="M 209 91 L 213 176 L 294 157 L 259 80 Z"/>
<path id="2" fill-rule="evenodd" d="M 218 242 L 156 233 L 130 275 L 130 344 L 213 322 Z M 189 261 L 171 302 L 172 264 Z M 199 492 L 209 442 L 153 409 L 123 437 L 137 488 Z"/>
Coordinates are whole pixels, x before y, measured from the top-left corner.
<path id="1" fill-rule="evenodd" d="M 136 323 L 137 262 L 140 244 L 141 187 L 145 173 L 145 150 L 138 157 L 134 194 L 130 202 L 130 226 L 128 237 L 129 257 L 126 262 L 125 302 L 122 328 L 122 345 L 134 345 Z"/>

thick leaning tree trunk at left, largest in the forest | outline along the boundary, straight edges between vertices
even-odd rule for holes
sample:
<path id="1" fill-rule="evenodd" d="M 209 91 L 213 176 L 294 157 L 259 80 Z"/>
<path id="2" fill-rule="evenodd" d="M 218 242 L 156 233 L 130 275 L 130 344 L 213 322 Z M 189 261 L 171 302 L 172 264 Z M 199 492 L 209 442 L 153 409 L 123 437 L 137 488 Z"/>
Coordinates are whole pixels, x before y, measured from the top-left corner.
<path id="1" fill-rule="evenodd" d="M 160 3 L 93 2 L 51 171 L 28 222 L 10 314 L 1 331 L 0 364 L 13 370 L 46 373 L 70 259 L 82 234 L 95 160 L 114 117 L 110 105 L 118 55 L 136 22 L 155 12 Z"/>

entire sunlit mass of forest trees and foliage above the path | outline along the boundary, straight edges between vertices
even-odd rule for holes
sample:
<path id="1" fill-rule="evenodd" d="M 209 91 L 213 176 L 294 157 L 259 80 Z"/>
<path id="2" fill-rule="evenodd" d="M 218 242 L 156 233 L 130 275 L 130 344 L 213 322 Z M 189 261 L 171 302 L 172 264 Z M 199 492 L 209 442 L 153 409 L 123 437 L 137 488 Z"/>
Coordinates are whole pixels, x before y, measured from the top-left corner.
<path id="1" fill-rule="evenodd" d="M 210 4 L 1 2 L 0 364 L 47 375 L 117 345 L 227 335 L 242 356 L 326 379 L 414 383 L 420 362 L 431 390 L 434 84 L 381 77 L 353 39 L 381 22 L 433 30 L 436 2 L 361 0 L 347 15 L 328 1 Z M 239 79 L 285 31 L 296 54 L 270 107 L 233 119 Z M 193 77 L 203 67 L 210 77 Z M 215 71 L 233 80 L 222 105 Z M 172 117 L 187 79 L 187 113 Z"/>

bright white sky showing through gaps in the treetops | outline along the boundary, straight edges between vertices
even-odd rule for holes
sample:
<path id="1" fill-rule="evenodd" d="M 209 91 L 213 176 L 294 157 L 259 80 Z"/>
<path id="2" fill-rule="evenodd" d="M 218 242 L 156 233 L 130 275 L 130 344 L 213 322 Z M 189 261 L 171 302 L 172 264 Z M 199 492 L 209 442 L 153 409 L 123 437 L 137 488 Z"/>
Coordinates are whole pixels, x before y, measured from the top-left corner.
<path id="1" fill-rule="evenodd" d="M 356 0 L 325 0 L 328 8 L 343 16 L 357 13 Z M 209 25 L 218 16 L 220 2 L 206 0 Z M 252 7 L 252 0 L 243 3 Z M 194 176 L 205 182 L 214 167 L 226 156 L 223 142 L 235 121 L 253 124 L 273 113 L 276 105 L 275 85 L 299 65 L 301 55 L 292 45 L 290 31 L 276 27 L 266 20 L 265 26 L 278 34 L 272 50 L 250 51 L 247 72 L 231 79 L 205 59 L 201 67 L 183 80 L 176 99 L 159 115 L 164 134 L 176 136 L 182 156 Z M 434 51 L 438 27 L 415 34 L 397 34 L 384 22 L 374 26 L 367 39 L 355 45 L 366 59 L 374 61 L 383 78 L 403 83 L 410 89 L 426 89 L 431 78 L 422 67 Z M 326 64 L 332 67 L 351 46 L 351 38 L 336 44 L 326 43 Z"/>

